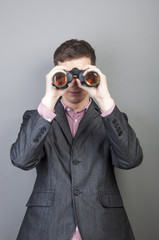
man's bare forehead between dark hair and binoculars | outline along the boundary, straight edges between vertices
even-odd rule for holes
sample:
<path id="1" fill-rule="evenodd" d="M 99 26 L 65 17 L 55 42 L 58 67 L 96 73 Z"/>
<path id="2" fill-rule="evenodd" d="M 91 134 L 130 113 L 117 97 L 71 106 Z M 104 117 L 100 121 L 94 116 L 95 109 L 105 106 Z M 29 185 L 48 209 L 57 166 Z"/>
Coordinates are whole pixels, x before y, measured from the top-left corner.
<path id="1" fill-rule="evenodd" d="M 90 65 L 90 64 L 91 64 L 91 60 L 88 57 L 81 57 L 77 59 L 66 60 L 64 62 L 58 62 L 59 66 L 60 65 L 66 66 L 70 68 L 70 70 L 75 67 L 82 70 L 86 65 Z"/>

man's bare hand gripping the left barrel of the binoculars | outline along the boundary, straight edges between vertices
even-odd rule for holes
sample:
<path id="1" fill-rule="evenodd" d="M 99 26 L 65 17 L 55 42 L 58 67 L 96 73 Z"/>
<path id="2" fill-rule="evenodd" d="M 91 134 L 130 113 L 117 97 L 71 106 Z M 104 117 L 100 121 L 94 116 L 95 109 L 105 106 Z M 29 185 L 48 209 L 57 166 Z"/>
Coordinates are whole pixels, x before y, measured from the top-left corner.
<path id="1" fill-rule="evenodd" d="M 69 71 L 66 66 L 56 66 L 46 75 L 46 92 L 42 99 L 42 104 L 50 110 L 54 109 L 57 100 L 65 92 L 65 89 L 58 89 L 52 85 L 52 77 L 59 71 L 65 73 L 65 70 Z"/>

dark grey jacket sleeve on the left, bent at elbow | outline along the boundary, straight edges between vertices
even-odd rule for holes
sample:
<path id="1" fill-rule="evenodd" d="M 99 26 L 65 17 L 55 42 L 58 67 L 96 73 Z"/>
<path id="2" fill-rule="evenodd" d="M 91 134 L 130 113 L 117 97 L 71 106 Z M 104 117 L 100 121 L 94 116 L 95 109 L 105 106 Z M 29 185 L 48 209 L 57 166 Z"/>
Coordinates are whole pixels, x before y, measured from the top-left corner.
<path id="1" fill-rule="evenodd" d="M 29 170 L 39 163 L 44 155 L 43 145 L 49 129 L 50 123 L 36 110 L 24 113 L 17 140 L 10 150 L 14 166 Z"/>

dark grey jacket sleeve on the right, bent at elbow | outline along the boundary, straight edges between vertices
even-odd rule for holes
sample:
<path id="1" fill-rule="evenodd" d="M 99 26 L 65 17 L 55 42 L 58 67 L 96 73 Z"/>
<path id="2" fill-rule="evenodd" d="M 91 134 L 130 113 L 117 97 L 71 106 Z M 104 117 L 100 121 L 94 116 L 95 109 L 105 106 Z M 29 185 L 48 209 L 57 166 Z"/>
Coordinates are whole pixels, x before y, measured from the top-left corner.
<path id="1" fill-rule="evenodd" d="M 142 148 L 128 118 L 117 107 L 103 118 L 111 143 L 112 164 L 122 169 L 130 169 L 141 164 Z"/>

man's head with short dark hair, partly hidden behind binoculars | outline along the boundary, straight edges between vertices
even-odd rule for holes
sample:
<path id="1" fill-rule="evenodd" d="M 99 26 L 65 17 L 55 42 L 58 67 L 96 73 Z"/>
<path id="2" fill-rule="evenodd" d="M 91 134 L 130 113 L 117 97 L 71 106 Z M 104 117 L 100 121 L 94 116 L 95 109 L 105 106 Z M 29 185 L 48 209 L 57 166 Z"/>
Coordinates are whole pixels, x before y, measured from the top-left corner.
<path id="1" fill-rule="evenodd" d="M 55 66 L 65 66 L 70 70 L 78 68 L 83 70 L 86 65 L 95 65 L 96 56 L 94 49 L 84 40 L 71 39 L 62 43 L 54 53 Z M 69 83 L 63 94 L 65 104 L 71 108 L 86 106 L 89 94 L 77 84 L 77 77 Z"/>

